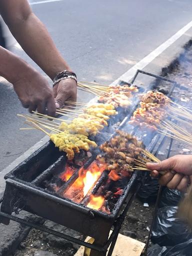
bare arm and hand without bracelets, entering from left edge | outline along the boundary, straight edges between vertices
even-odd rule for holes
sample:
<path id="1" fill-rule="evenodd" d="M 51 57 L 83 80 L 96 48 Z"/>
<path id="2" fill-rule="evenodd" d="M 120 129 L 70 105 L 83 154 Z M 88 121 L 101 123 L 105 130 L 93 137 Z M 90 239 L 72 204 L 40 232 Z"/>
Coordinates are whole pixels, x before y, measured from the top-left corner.
<path id="1" fill-rule="evenodd" d="M 24 60 L 0 46 L 0 75 L 13 84 L 22 105 L 32 110 L 37 109 L 48 115 L 54 115 L 55 102 L 46 79 Z"/>

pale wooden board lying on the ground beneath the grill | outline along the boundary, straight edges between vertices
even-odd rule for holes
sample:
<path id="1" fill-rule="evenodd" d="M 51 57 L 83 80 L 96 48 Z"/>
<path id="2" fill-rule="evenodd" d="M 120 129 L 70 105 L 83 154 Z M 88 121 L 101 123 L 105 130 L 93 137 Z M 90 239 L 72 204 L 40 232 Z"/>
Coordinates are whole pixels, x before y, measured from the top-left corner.
<path id="1" fill-rule="evenodd" d="M 89 236 L 86 237 L 85 241 L 90 239 Z M 112 256 L 140 256 L 145 243 L 135 240 L 131 237 L 118 234 L 116 244 Z M 88 256 L 84 254 L 84 247 L 80 246 L 74 256 Z"/>

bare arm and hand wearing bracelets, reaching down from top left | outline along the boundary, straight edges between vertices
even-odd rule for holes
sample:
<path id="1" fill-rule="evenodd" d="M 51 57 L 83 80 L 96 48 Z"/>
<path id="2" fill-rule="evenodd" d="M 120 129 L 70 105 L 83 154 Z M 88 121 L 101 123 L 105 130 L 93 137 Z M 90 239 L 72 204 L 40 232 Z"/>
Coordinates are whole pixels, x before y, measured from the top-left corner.
<path id="1" fill-rule="evenodd" d="M 0 14 L 24 51 L 51 79 L 64 69 L 70 70 L 27 0 L 0 0 Z M 54 86 L 53 94 L 56 107 L 65 100 L 76 101 L 76 81 L 61 80 Z"/>

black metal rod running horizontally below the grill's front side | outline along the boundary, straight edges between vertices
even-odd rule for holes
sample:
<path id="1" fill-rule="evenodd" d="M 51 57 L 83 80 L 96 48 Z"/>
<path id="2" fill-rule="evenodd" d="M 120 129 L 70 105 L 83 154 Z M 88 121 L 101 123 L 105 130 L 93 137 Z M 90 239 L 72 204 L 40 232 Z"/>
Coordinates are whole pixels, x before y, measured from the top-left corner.
<path id="1" fill-rule="evenodd" d="M 33 222 L 30 222 L 28 220 L 24 220 L 22 218 L 19 218 L 19 217 L 16 217 L 16 216 L 13 216 L 13 215 L 10 215 L 10 214 L 7 214 L 7 213 L 4 213 L 4 212 L 1 212 L 0 211 L 0 216 L 2 217 L 5 217 L 5 218 L 8 218 L 8 219 L 11 219 L 13 221 L 16 221 L 16 222 L 19 222 L 21 224 L 24 224 L 24 225 L 27 225 L 27 226 L 30 226 L 30 227 L 33 227 L 33 228 L 36 228 L 36 229 L 39 229 L 43 232 L 46 232 L 46 233 L 49 233 L 49 234 L 53 234 L 55 236 L 58 236 L 58 237 L 61 237 L 63 239 L 66 239 L 68 241 L 71 241 L 71 242 L 75 242 L 77 244 L 80 244 L 82 246 L 85 246 L 85 247 L 88 247 L 90 249 L 94 249 L 94 250 L 97 250 L 97 251 L 103 251 L 103 247 L 101 246 L 96 246 L 94 244 L 91 244 L 91 243 L 88 243 L 88 242 L 84 242 L 84 241 L 81 241 L 77 238 L 74 238 L 70 235 L 67 235 L 67 234 L 64 234 L 64 233 L 61 233 L 61 232 L 58 232 L 58 231 L 55 231 L 53 229 L 50 229 L 48 227 L 45 227 L 43 225 L 40 225 L 40 224 L 35 224 Z"/>

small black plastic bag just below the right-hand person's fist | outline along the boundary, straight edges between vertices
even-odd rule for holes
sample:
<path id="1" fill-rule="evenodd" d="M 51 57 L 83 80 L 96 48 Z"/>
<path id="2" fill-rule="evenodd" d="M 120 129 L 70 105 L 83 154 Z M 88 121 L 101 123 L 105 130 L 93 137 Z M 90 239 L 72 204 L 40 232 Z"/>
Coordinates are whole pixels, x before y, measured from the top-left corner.
<path id="1" fill-rule="evenodd" d="M 180 191 L 163 187 L 158 207 L 176 206 L 181 197 L 182 195 Z"/>

